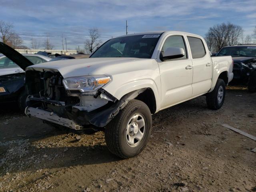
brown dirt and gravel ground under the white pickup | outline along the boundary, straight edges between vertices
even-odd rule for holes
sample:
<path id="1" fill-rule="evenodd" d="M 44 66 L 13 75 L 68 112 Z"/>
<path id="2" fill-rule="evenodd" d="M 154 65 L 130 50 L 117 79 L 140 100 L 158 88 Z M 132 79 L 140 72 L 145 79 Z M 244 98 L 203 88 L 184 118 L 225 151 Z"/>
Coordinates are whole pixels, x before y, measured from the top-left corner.
<path id="1" fill-rule="evenodd" d="M 0 191 L 256 191 L 256 94 L 228 90 L 218 111 L 205 97 L 153 115 L 145 150 L 122 160 L 104 132 L 55 130 L 15 111 L 0 112 Z"/>

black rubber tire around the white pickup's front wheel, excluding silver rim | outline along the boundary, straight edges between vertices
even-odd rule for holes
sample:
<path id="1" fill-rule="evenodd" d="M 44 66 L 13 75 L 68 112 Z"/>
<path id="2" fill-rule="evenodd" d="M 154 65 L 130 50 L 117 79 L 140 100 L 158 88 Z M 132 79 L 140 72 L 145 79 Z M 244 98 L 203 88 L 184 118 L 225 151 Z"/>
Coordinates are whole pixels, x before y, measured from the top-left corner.
<path id="1" fill-rule="evenodd" d="M 143 116 L 143 120 L 146 128 L 144 130 L 144 136 L 138 143 L 134 146 L 130 146 L 127 142 L 129 136 L 127 136 L 127 127 L 130 124 L 130 119 L 134 115 Z M 128 122 L 130 121 L 130 122 Z M 140 130 L 140 128 L 139 128 Z M 138 155 L 146 147 L 148 140 L 150 138 L 152 130 L 152 116 L 148 106 L 139 100 L 131 100 L 120 112 L 119 114 L 106 126 L 105 130 L 105 140 L 110 152 L 115 154 L 120 158 L 131 158 Z M 137 130 L 138 132 L 138 130 Z M 127 140 L 126 140 L 127 138 Z M 130 137 L 129 137 L 130 138 Z M 136 139 L 135 139 L 136 140 Z M 134 140 L 134 141 L 135 141 Z"/>

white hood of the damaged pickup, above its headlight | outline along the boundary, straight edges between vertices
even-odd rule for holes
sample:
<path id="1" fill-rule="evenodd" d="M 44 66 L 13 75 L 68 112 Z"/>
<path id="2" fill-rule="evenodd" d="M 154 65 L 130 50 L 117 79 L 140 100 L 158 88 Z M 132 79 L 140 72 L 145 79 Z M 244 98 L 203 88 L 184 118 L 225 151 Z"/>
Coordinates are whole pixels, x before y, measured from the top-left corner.
<path id="1" fill-rule="evenodd" d="M 114 75 L 120 73 L 120 70 L 136 70 L 136 63 L 141 62 L 142 58 L 84 58 L 70 59 L 36 64 L 27 68 L 27 70 L 46 70 L 55 69 L 62 74 L 64 78 L 87 75 Z M 122 66 L 122 67 L 120 67 Z M 131 69 L 132 68 L 132 69 Z M 140 66 L 137 66 L 140 68 Z M 118 71 L 117 71 L 118 69 Z M 122 72 L 121 72 L 122 73 Z"/>

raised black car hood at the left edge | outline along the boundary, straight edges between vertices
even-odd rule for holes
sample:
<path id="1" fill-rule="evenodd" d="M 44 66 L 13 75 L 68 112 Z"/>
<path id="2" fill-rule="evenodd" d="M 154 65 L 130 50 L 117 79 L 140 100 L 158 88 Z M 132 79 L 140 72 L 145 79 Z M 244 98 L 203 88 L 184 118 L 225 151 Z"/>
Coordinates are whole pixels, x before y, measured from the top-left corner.
<path id="1" fill-rule="evenodd" d="M 3 42 L 0 42 L 0 53 L 4 54 L 7 58 L 16 63 L 23 70 L 25 70 L 26 67 L 33 65 L 30 60 Z"/>

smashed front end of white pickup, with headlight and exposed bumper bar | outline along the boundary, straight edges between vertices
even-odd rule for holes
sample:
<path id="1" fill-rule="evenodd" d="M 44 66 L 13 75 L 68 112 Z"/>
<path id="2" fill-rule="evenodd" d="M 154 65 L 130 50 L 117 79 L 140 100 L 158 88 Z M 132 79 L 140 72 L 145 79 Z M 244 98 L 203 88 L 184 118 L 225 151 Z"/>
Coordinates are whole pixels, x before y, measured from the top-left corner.
<path id="1" fill-rule="evenodd" d="M 102 89 L 108 76 L 84 76 L 63 79 L 58 70 L 28 68 L 26 115 L 34 116 L 72 129 L 90 125 L 104 127 L 129 100 L 144 90 L 127 94 L 120 100 Z"/>

